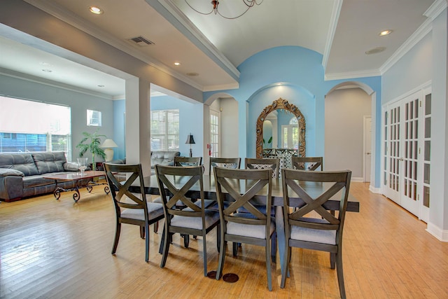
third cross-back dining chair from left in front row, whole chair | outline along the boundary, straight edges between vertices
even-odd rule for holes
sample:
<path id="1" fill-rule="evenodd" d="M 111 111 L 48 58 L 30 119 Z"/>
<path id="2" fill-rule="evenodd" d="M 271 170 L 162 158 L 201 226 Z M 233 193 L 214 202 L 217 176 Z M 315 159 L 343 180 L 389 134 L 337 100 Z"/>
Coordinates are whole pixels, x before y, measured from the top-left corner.
<path id="1" fill-rule="evenodd" d="M 216 279 L 219 280 L 223 273 L 226 242 L 265 246 L 267 286 L 269 291 L 272 291 L 270 240 L 275 232 L 275 221 L 271 215 L 258 209 L 263 204 L 265 211 L 271 210 L 272 169 L 214 167 L 214 176 L 221 218 L 221 246 Z M 240 188 L 241 181 L 246 186 L 243 194 L 241 194 Z M 266 197 L 263 202 L 258 202 L 258 205 L 255 205 L 251 200 L 255 200 L 255 195 L 260 192 L 264 193 Z M 229 201 L 230 204 L 224 204 Z M 248 213 L 238 213 L 237 209 L 240 207 L 244 207 Z"/>

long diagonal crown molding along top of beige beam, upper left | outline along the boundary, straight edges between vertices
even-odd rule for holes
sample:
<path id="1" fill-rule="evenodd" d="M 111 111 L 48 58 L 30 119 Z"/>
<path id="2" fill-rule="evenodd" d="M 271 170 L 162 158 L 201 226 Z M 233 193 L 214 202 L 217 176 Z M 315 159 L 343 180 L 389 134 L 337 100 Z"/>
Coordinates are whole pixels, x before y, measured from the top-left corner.
<path id="1" fill-rule="evenodd" d="M 141 60 L 142 62 L 145 62 L 152 67 L 155 67 L 156 69 L 163 71 L 166 74 L 169 74 L 170 76 L 173 76 L 174 78 L 177 78 L 188 85 L 193 86 L 194 88 L 197 88 L 198 90 L 203 91 L 204 86 L 195 83 L 194 81 L 191 81 L 190 78 L 187 76 L 184 76 L 183 74 L 179 74 L 177 72 L 172 71 L 169 67 L 167 67 L 165 64 L 160 62 L 159 60 L 156 60 L 153 57 L 149 57 L 148 55 L 144 55 L 140 53 L 138 50 L 132 48 L 132 46 L 125 43 L 125 41 L 121 41 L 120 39 L 116 39 L 111 34 L 104 32 L 101 29 L 98 29 L 97 27 L 94 27 L 90 22 L 81 21 L 77 16 L 73 13 L 66 12 L 56 4 L 51 4 L 50 1 L 43 1 L 43 0 L 24 0 L 27 3 L 31 4 L 32 6 L 36 6 L 37 8 L 41 9 L 42 11 L 45 11 L 45 13 L 49 13 L 50 15 L 54 16 L 55 18 L 58 18 L 59 20 L 62 20 L 63 22 L 66 22 L 67 24 L 76 27 L 80 29 L 81 31 L 90 34 L 97 39 L 104 41 L 105 43 L 108 43 L 109 45 L 113 46 L 114 48 L 117 48 L 118 50 L 122 50 L 123 52 L 132 55 L 133 57 L 137 58 L 138 60 Z M 87 66 L 88 67 L 88 66 Z"/>

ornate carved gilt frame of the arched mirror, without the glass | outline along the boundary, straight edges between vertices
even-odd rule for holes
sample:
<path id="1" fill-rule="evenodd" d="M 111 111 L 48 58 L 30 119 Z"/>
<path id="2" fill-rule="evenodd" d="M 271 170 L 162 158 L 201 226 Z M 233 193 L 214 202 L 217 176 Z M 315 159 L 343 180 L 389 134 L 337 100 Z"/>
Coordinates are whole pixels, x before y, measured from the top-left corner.
<path id="1" fill-rule="evenodd" d="M 262 158 L 263 153 L 263 122 L 265 121 L 267 115 L 271 113 L 274 110 L 277 109 L 283 109 L 290 111 L 290 113 L 293 113 L 293 115 L 297 118 L 297 122 L 299 125 L 299 157 L 305 156 L 305 118 L 303 117 L 302 112 L 300 112 L 300 109 L 297 108 L 297 106 L 294 106 L 293 104 L 289 104 L 289 102 L 286 99 L 282 99 L 281 97 L 279 99 L 276 99 L 274 102 L 272 102 L 271 105 L 266 106 L 265 109 L 260 113 L 260 116 L 258 116 L 257 120 L 257 141 L 256 141 L 256 157 Z"/>

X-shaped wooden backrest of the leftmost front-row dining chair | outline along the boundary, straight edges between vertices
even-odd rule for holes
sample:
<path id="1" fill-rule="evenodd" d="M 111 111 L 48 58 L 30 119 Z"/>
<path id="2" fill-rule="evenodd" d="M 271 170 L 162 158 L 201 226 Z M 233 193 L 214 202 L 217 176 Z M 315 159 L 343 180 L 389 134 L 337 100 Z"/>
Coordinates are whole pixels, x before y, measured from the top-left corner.
<path id="1" fill-rule="evenodd" d="M 146 193 L 141 164 L 103 164 L 106 172 L 107 183 L 111 191 L 112 199 L 116 207 L 117 216 L 120 216 L 120 208 L 144 209 L 144 215 L 148 217 Z M 124 179 L 124 180 L 123 180 Z M 140 183 L 140 193 L 131 193 L 129 188 L 134 181 Z"/>

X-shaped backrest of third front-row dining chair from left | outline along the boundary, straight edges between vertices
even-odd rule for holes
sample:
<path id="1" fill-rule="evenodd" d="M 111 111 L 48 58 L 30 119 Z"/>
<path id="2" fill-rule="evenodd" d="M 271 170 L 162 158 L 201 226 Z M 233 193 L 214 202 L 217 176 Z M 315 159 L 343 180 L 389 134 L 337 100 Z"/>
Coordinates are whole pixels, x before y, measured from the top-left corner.
<path id="1" fill-rule="evenodd" d="M 272 169 L 214 167 L 214 176 L 221 219 L 242 224 L 267 225 L 266 236 L 269 236 L 271 216 L 266 215 L 265 211 L 270 211 L 272 206 Z M 241 186 L 245 186 L 244 190 L 241 190 Z M 254 204 L 255 195 L 261 195 L 263 189 L 265 192 L 262 194 L 262 202 Z M 224 201 L 231 204 L 224 204 Z M 244 207 L 252 216 L 238 217 L 238 214 L 234 214 L 241 207 Z"/>

